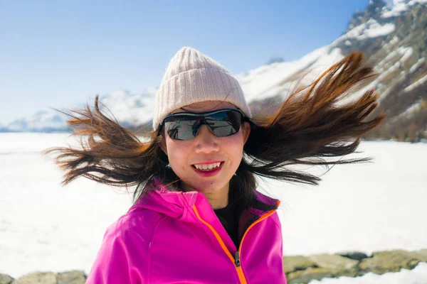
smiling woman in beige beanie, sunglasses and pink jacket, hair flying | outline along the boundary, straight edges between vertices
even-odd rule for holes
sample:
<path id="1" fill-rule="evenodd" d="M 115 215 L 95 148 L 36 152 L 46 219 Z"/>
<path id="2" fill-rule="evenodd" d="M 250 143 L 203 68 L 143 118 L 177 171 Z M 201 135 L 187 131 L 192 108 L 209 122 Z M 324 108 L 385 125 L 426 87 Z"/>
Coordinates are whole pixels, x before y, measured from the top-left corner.
<path id="1" fill-rule="evenodd" d="M 340 158 L 381 122 L 381 114 L 367 120 L 376 94 L 340 101 L 371 76 L 362 55 L 349 55 L 255 119 L 227 70 L 182 48 L 157 92 L 149 141 L 102 114 L 97 98 L 95 111 L 75 111 L 68 122 L 87 143 L 50 150 L 60 151 L 63 183 L 84 176 L 136 185 L 135 203 L 105 232 L 87 283 L 286 283 L 280 202 L 255 190 L 255 175 L 317 184 L 288 166 L 367 160 Z"/>

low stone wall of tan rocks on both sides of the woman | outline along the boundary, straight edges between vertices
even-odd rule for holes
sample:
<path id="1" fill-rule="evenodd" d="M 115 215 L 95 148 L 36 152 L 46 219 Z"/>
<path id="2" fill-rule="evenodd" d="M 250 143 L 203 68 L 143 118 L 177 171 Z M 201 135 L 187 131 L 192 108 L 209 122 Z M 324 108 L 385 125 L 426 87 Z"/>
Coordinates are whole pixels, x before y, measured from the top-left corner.
<path id="1" fill-rule="evenodd" d="M 283 258 L 283 271 L 289 284 L 307 284 L 311 280 L 322 278 L 356 277 L 368 272 L 383 274 L 397 272 L 401 268 L 410 270 L 420 262 L 427 262 L 427 249 L 379 251 L 373 253 L 372 257 L 365 253 L 348 251 L 334 255 L 286 256 Z M 86 278 L 84 271 L 35 272 L 16 280 L 0 273 L 0 284 L 85 284 Z"/>

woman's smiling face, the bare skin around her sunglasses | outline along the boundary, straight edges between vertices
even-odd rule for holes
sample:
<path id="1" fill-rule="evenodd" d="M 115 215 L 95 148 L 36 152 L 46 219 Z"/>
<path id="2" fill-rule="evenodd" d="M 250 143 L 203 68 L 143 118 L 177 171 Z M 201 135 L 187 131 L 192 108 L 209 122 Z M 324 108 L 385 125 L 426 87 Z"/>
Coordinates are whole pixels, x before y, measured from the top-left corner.
<path id="1" fill-rule="evenodd" d="M 190 104 L 176 112 L 204 112 L 216 109 L 236 109 L 227 102 L 199 102 Z M 243 145 L 248 140 L 251 127 L 248 122 L 242 124 L 238 133 L 226 137 L 216 137 L 208 126 L 202 125 L 199 134 L 189 141 L 174 140 L 164 134 L 161 147 L 169 158 L 174 173 L 181 179 L 181 187 L 185 191 L 196 190 L 213 193 L 218 190 L 228 190 L 228 182 L 241 163 Z M 214 174 L 201 172 L 195 165 L 220 163 L 219 170 Z"/>

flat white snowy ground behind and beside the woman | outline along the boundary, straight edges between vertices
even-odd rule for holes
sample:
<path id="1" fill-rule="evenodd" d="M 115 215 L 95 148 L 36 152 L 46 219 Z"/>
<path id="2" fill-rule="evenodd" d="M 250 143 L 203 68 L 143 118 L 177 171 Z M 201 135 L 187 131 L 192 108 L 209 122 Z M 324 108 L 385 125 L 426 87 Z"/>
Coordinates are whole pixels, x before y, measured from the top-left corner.
<path id="1" fill-rule="evenodd" d="M 0 273 L 88 272 L 106 227 L 130 207 L 126 194 L 89 180 L 60 187 L 62 173 L 40 151 L 67 136 L 0 133 Z M 319 187 L 260 182 L 282 200 L 285 255 L 427 248 L 427 144 L 360 150 L 374 163 L 335 166 Z M 312 283 L 427 283 L 427 264 Z"/>

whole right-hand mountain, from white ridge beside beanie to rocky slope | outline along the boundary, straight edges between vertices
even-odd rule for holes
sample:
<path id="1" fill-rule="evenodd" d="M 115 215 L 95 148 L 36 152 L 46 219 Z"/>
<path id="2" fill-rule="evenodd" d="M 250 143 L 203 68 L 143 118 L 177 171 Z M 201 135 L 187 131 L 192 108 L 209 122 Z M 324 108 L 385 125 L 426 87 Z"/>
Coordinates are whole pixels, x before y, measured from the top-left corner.
<path id="1" fill-rule="evenodd" d="M 418 141 L 427 133 L 427 1 L 398 0 L 387 6 L 371 0 L 354 13 L 347 30 L 330 45 L 295 62 L 259 67 L 239 77 L 254 109 L 286 97 L 297 80 L 308 84 L 320 72 L 354 51 L 362 51 L 378 76 L 357 93 L 377 89 L 386 122 L 368 137 Z M 265 80 L 257 89 L 255 82 Z M 274 81 L 274 82 L 273 82 Z M 255 85 L 254 85 L 255 84 Z M 260 98 L 256 101 L 255 98 Z"/>

